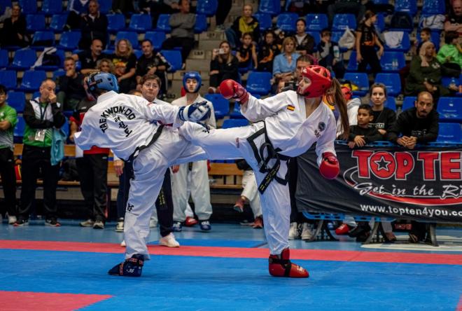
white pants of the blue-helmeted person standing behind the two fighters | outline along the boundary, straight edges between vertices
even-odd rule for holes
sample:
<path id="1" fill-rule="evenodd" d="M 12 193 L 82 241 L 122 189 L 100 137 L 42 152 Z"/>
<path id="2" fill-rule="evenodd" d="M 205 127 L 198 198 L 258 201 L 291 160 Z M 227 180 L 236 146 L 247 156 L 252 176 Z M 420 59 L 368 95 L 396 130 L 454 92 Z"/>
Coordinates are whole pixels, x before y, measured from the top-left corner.
<path id="1" fill-rule="evenodd" d="M 180 170 L 172 174 L 172 196 L 174 200 L 174 221 L 186 220 L 188 207 L 188 163 L 180 165 Z M 193 163 L 190 171 L 191 198 L 193 198 L 195 213 L 200 220 L 208 220 L 212 213 L 210 204 L 209 172 L 207 160 Z"/>

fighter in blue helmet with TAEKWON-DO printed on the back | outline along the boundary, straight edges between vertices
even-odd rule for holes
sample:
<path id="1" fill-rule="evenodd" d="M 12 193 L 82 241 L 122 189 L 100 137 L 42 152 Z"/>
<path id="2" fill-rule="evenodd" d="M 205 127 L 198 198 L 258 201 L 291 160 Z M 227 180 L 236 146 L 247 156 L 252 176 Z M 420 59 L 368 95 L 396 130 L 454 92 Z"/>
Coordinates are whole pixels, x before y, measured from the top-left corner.
<path id="1" fill-rule="evenodd" d="M 134 171 L 125 212 L 125 261 L 109 274 L 139 277 L 144 261 L 149 259 L 149 219 L 165 171 L 171 165 L 207 158 L 178 131 L 163 130 L 163 124 L 179 127 L 185 121 L 206 120 L 210 108 L 205 102 L 178 107 L 118 94 L 113 74 L 93 73 L 86 83 L 97 104 L 85 113 L 81 130 L 75 134 L 76 144 L 83 150 L 91 146 L 111 148 L 118 158 L 132 161 Z"/>

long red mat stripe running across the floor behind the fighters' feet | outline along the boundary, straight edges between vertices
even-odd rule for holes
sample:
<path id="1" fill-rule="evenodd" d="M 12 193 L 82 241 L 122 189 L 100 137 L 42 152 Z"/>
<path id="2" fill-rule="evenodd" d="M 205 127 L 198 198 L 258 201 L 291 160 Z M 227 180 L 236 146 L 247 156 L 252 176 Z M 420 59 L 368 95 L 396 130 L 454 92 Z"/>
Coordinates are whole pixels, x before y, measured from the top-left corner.
<path id="1" fill-rule="evenodd" d="M 113 243 L 55 242 L 0 240 L 0 249 L 30 249 L 42 251 L 83 251 L 90 253 L 123 254 L 125 249 Z M 192 247 L 179 248 L 149 245 L 153 255 L 196 256 L 221 258 L 267 258 L 268 249 L 242 247 Z M 353 261 L 366 263 L 428 263 L 462 265 L 461 254 L 430 254 L 379 251 L 334 251 L 320 249 L 290 249 L 290 258 L 316 261 Z"/>

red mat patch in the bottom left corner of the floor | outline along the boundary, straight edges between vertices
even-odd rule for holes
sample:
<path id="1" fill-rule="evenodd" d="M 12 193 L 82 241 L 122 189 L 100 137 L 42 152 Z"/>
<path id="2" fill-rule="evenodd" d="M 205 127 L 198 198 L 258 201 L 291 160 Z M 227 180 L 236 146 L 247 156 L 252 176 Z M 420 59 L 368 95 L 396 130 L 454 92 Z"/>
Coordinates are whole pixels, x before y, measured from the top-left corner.
<path id="1" fill-rule="evenodd" d="M 83 293 L 34 293 L 33 291 L 0 291 L 1 310 L 77 310 L 98 303 L 111 295 Z"/>

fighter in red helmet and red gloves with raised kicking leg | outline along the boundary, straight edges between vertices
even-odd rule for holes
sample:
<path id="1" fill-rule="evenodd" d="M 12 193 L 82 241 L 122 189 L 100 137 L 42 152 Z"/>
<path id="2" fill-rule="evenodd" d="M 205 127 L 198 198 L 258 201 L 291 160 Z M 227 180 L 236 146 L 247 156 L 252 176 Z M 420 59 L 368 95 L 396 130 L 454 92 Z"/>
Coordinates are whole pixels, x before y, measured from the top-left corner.
<path id="1" fill-rule="evenodd" d="M 339 174 L 334 149 L 335 118 L 323 103 L 323 95 L 335 101 L 345 120 L 344 128 L 348 128 L 342 89 L 330 72 L 321 66 L 308 66 L 302 70 L 302 77 L 296 92 L 288 90 L 266 99 L 256 99 L 239 83 L 225 80 L 220 85 L 221 94 L 240 102 L 241 113 L 253 124 L 206 131 L 201 125 L 185 123 L 180 128 L 180 134 L 204 148 L 210 159 L 244 158 L 253 168 L 269 245 L 269 274 L 275 277 L 309 275 L 289 259 L 287 159 L 301 155 L 316 143 L 321 175 L 335 179 Z"/>

